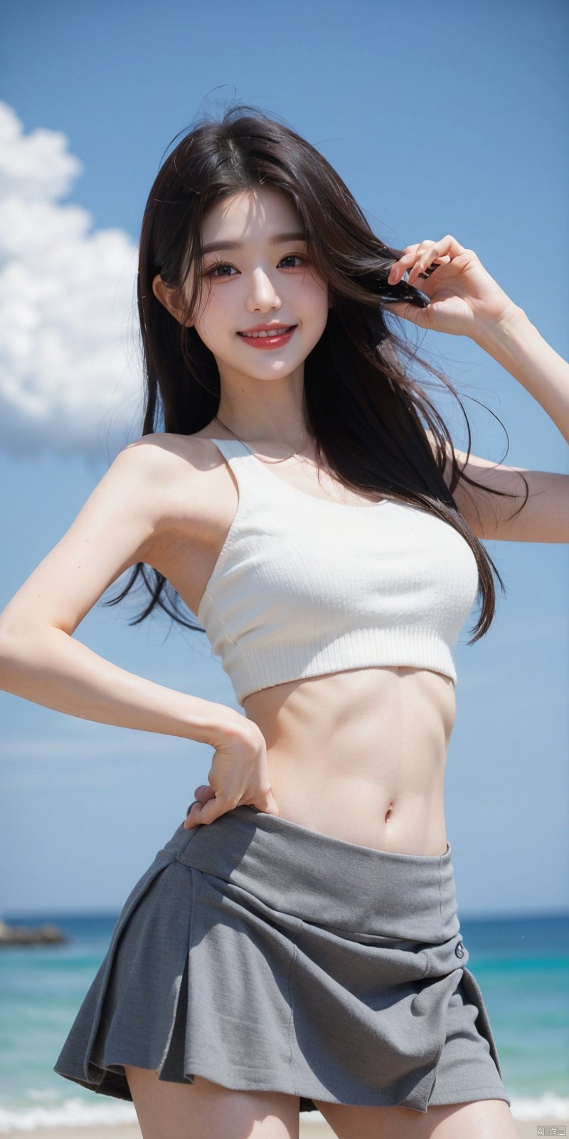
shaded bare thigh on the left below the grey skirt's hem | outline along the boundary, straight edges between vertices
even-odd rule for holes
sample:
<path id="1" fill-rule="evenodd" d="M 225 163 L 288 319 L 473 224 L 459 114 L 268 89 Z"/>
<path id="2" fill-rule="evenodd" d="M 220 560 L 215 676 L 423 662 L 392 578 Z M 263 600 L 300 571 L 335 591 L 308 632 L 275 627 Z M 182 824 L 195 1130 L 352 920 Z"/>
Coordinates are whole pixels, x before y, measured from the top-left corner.
<path id="1" fill-rule="evenodd" d="M 298 1139 L 298 1096 L 233 1091 L 196 1076 L 159 1080 L 149 1068 L 124 1066 L 142 1139 Z"/>

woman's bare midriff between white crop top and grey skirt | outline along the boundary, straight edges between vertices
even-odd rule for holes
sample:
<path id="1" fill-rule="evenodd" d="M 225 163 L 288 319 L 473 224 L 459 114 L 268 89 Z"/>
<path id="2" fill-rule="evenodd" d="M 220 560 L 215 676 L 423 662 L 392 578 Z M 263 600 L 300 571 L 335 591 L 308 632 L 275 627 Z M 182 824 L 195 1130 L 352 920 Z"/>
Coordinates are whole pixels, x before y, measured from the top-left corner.
<path id="1" fill-rule="evenodd" d="M 450 678 L 371 667 L 277 685 L 244 702 L 280 814 L 348 843 L 444 854 Z"/>

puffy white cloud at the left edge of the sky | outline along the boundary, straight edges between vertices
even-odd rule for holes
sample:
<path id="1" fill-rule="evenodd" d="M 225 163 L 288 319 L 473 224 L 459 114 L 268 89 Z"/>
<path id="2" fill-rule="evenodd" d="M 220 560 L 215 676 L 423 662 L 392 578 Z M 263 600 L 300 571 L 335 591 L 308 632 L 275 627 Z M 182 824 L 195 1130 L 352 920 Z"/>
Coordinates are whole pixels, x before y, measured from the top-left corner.
<path id="1" fill-rule="evenodd" d="M 0 445 L 110 459 L 141 431 L 138 251 L 61 203 L 67 145 L 0 101 Z"/>

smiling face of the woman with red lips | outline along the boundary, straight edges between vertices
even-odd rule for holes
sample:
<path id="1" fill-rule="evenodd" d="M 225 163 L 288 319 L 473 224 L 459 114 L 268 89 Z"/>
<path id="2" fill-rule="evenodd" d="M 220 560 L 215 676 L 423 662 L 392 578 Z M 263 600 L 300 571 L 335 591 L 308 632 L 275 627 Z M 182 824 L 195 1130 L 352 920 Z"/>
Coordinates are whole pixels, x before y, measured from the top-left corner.
<path id="1" fill-rule="evenodd" d="M 222 379 L 304 375 L 304 361 L 325 328 L 329 301 L 325 281 L 307 261 L 303 229 L 290 199 L 273 187 L 236 194 L 207 212 L 193 326 Z M 229 243 L 237 247 L 212 248 Z M 240 335 L 275 323 L 296 326 L 284 344 L 254 347 Z"/>

